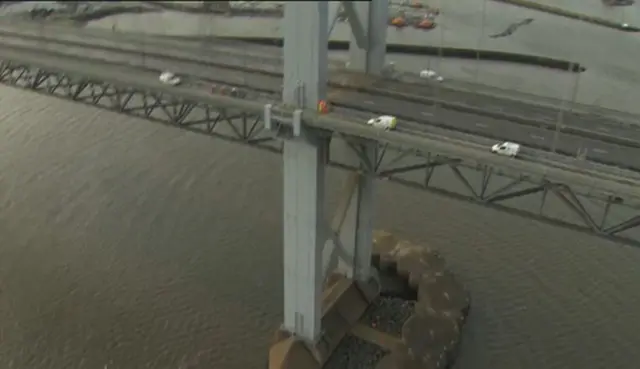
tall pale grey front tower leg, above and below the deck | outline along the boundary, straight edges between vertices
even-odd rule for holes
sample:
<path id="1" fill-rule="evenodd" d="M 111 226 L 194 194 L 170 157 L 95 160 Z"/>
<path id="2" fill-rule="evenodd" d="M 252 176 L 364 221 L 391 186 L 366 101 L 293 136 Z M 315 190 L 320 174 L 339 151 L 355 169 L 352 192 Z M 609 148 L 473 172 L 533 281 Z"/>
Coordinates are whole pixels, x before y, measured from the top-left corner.
<path id="1" fill-rule="evenodd" d="M 328 2 L 285 5 L 285 104 L 315 110 L 326 97 L 328 10 Z M 283 328 L 311 342 L 321 332 L 326 150 L 326 140 L 304 124 L 284 142 Z"/>

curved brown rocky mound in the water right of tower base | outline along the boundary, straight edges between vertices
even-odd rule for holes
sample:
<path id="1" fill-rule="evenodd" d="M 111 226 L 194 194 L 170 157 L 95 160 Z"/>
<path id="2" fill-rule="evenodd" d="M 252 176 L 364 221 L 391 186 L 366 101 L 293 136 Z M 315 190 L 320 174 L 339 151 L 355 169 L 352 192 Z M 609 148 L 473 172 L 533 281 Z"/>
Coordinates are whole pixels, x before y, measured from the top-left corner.
<path id="1" fill-rule="evenodd" d="M 398 242 L 390 233 L 374 236 L 374 265 L 417 291 L 413 314 L 402 326 L 401 340 L 377 364 L 378 369 L 440 369 L 456 359 L 461 331 L 470 308 L 465 288 L 434 250 Z M 382 293 L 385 291 L 383 282 Z"/>

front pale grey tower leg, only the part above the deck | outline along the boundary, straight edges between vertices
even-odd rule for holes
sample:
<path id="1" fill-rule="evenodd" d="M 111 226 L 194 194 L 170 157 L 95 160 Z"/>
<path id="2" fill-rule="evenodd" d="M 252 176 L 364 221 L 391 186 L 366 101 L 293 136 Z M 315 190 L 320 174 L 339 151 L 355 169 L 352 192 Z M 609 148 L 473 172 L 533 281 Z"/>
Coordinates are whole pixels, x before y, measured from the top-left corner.
<path id="1" fill-rule="evenodd" d="M 284 8 L 284 103 L 316 109 L 326 98 L 329 60 L 327 1 L 288 2 Z"/>

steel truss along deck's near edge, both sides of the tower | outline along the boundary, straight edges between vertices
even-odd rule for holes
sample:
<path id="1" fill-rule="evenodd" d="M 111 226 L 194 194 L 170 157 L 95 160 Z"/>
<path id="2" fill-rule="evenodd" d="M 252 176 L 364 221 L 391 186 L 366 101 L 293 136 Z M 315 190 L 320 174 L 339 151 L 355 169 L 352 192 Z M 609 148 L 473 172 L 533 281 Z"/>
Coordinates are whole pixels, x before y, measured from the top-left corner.
<path id="1" fill-rule="evenodd" d="M 0 83 L 272 152 L 281 152 L 280 138 L 290 134 L 290 127 L 278 122 L 274 127 L 276 134 L 274 129 L 265 129 L 262 114 L 191 103 L 177 96 L 52 73 L 24 64 L 0 62 Z M 360 153 L 361 138 L 334 134 L 335 139 L 347 141 L 356 153 Z M 373 171 L 379 178 L 405 186 L 640 245 L 640 232 L 634 230 L 640 226 L 640 205 L 629 204 L 615 195 L 593 193 L 586 186 L 554 183 L 437 153 L 400 150 L 386 144 L 379 146 L 375 162 L 359 155 L 358 167 L 346 164 L 335 154 L 329 156 L 333 166 Z"/>

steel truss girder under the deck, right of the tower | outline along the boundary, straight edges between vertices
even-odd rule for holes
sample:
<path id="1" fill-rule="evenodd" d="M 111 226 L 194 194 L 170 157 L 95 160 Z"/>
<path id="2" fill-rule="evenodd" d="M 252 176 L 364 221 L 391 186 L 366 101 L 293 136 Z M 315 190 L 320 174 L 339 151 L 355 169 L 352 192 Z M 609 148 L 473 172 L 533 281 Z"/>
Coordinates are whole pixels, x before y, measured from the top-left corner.
<path id="1" fill-rule="evenodd" d="M 361 155 L 357 145 L 351 148 Z M 586 185 L 534 179 L 433 153 L 393 152 L 389 147 L 382 148 L 376 163 L 362 160 L 360 169 L 373 170 L 380 178 L 409 187 L 640 245 L 640 232 L 632 232 L 640 226 L 640 206 L 625 204 L 623 198 L 615 195 L 592 193 Z M 434 183 L 437 177 L 441 177 L 439 184 Z M 522 203 L 525 199 L 528 204 Z"/>

